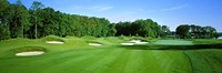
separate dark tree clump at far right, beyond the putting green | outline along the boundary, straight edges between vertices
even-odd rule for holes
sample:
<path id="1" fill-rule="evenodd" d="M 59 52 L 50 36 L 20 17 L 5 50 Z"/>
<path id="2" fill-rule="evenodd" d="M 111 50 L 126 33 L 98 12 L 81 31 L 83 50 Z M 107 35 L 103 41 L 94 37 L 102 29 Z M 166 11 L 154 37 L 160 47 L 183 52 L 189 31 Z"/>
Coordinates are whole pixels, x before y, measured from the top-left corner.
<path id="1" fill-rule="evenodd" d="M 175 32 L 181 39 L 212 39 L 219 38 L 219 33 L 212 27 L 200 27 L 195 24 L 181 24 Z"/>

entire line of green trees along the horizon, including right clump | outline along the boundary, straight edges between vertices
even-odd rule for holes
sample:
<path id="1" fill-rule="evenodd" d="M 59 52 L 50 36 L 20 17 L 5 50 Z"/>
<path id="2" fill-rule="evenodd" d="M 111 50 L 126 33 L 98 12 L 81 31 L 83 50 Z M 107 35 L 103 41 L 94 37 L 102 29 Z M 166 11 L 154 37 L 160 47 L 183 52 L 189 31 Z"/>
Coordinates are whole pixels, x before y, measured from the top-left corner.
<path id="1" fill-rule="evenodd" d="M 160 25 L 152 19 L 139 19 L 133 22 L 111 23 L 105 18 L 69 14 L 56 11 L 41 2 L 34 1 L 30 8 L 21 0 L 10 3 L 0 0 L 0 40 L 13 38 L 38 39 L 50 34 L 58 36 L 118 36 L 140 35 L 161 38 L 171 31 L 167 25 Z M 216 30 L 212 27 L 182 24 L 176 28 L 176 35 L 181 39 L 216 38 Z"/>

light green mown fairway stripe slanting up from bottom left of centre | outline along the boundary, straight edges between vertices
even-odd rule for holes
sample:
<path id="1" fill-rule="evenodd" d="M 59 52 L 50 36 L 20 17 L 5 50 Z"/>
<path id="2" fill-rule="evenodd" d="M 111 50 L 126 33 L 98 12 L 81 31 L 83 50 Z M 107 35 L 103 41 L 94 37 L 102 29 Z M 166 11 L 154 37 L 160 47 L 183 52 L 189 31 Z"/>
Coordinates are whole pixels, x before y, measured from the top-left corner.
<path id="1" fill-rule="evenodd" d="M 73 58 L 69 61 L 61 62 L 58 65 L 54 65 L 51 69 L 58 69 L 53 71 L 47 71 L 47 72 L 53 72 L 53 73 L 61 73 L 62 71 L 65 72 L 74 72 L 74 73 L 81 73 L 85 67 L 90 66 L 89 64 L 97 62 L 99 59 L 105 56 L 110 52 L 114 50 L 101 50 L 100 52 L 97 53 L 90 53 L 84 56 L 79 56 L 79 58 Z M 63 67 L 65 66 L 65 67 Z M 71 69 L 73 67 L 73 69 Z"/>

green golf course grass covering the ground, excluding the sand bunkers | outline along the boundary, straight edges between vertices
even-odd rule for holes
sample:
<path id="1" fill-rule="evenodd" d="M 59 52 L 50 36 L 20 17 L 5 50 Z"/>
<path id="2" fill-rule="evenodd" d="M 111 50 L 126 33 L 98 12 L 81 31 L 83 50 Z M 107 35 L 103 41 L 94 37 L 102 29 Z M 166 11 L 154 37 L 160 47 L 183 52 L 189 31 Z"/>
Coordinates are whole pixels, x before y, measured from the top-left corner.
<path id="1" fill-rule="evenodd" d="M 222 73 L 222 50 L 175 48 L 191 43 L 213 44 L 222 41 L 149 39 L 148 41 L 152 41 L 150 44 L 125 48 L 120 43 L 135 38 L 52 38 L 65 43 L 47 44 L 49 36 L 38 40 L 1 41 L 0 73 Z M 89 46 L 89 42 L 103 45 Z M 171 43 L 165 45 L 168 42 Z M 149 46 L 151 50 L 144 50 Z M 161 46 L 167 50 L 155 49 Z M 47 52 L 38 56 L 14 56 L 17 52 L 30 50 Z"/>

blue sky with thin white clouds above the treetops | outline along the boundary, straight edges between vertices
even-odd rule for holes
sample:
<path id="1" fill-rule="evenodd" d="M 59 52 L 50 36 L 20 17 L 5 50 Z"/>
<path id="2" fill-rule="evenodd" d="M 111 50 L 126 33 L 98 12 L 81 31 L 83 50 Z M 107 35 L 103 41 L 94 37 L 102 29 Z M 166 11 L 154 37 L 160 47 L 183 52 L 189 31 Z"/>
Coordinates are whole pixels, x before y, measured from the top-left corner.
<path id="1" fill-rule="evenodd" d="M 196 24 L 222 32 L 222 0 L 22 0 L 22 3 L 30 8 L 33 1 L 61 12 L 107 18 L 111 22 L 152 19 L 171 31 L 180 24 Z"/>

